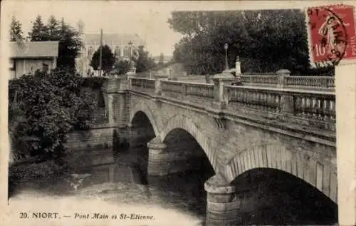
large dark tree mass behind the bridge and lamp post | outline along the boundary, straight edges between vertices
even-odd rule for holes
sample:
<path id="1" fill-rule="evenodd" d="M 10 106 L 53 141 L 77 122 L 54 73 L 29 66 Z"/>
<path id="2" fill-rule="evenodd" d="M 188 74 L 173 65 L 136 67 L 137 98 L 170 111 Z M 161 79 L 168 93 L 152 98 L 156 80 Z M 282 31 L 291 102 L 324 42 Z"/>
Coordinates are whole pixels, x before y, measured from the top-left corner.
<path id="1" fill-rule="evenodd" d="M 214 74 L 240 57 L 243 72 L 292 73 L 308 70 L 305 17 L 300 10 L 172 12 L 171 28 L 184 34 L 175 46 L 174 61 L 188 73 Z"/>

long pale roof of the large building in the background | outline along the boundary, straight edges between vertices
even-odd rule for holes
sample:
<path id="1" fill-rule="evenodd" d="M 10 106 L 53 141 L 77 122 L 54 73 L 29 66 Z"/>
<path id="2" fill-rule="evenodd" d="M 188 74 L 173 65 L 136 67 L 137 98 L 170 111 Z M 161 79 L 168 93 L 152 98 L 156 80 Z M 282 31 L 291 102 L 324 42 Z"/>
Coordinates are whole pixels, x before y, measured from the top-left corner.
<path id="1" fill-rule="evenodd" d="M 84 38 L 87 46 L 100 44 L 100 34 L 85 34 Z M 103 34 L 103 43 L 108 46 L 112 45 L 112 43 L 125 46 L 130 41 L 132 41 L 133 46 L 146 46 L 145 41 L 137 34 Z"/>

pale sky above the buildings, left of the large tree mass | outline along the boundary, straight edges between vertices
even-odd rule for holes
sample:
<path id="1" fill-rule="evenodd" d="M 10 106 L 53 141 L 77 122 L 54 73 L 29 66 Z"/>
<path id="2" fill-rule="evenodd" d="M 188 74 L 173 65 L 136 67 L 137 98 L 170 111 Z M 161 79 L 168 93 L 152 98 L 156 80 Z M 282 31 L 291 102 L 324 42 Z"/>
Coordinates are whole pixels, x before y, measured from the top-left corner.
<path id="1" fill-rule="evenodd" d="M 158 7 L 157 7 L 158 6 Z M 68 24 L 75 26 L 79 19 L 85 24 L 85 32 L 138 34 L 147 43 L 147 51 L 152 56 L 172 56 L 174 43 L 179 42 L 182 34 L 169 29 L 167 20 L 171 10 L 163 9 L 157 4 L 137 7 L 118 1 L 41 1 L 33 6 L 33 2 L 23 2 L 13 7 L 12 14 L 19 19 L 23 33 L 28 34 L 31 21 L 39 14 L 46 23 L 49 16 L 54 15 Z M 23 10 L 25 9 L 25 10 Z M 25 13 L 26 12 L 26 13 Z"/>

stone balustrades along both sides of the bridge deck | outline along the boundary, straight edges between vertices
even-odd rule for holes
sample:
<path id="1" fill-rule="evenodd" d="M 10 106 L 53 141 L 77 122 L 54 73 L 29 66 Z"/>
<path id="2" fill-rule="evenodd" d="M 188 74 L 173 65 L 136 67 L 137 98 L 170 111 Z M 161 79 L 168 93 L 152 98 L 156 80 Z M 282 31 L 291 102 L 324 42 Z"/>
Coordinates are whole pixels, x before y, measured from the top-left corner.
<path id="1" fill-rule="evenodd" d="M 129 83 L 131 91 L 177 98 L 182 101 L 191 101 L 192 104 L 201 100 L 201 105 L 205 107 L 213 106 L 215 110 L 230 113 L 231 111 L 246 113 L 243 110 L 248 109 L 251 110 L 248 114 L 274 115 L 274 119 L 283 116 L 286 120 L 295 120 L 299 124 L 335 131 L 335 93 L 333 90 L 289 88 L 292 86 L 290 84 L 295 87 L 307 86 L 307 84 L 310 87 L 320 87 L 322 84 L 326 86 L 333 83 L 332 79 L 307 78 L 303 81 L 305 77 L 298 77 L 295 80 L 288 76 L 278 76 L 278 80 L 276 78 L 275 76 L 253 77 L 251 81 L 274 83 L 275 86 L 283 82 L 286 86 L 232 86 L 234 78 L 231 77 L 213 78 L 214 84 L 147 78 L 129 78 Z M 300 83 L 300 80 L 303 83 Z M 305 83 L 305 81 L 308 82 Z"/>

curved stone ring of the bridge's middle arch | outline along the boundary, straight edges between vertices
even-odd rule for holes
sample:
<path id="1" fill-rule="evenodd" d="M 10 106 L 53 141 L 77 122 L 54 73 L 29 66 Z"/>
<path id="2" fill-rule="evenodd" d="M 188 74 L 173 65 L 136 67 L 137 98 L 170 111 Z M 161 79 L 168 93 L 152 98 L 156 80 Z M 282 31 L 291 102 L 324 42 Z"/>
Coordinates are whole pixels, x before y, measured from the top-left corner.
<path id="1" fill-rule="evenodd" d="M 209 138 L 202 132 L 201 128 L 197 123 L 194 123 L 187 115 L 177 114 L 173 115 L 172 118 L 169 118 L 166 125 L 163 126 L 162 133 L 160 134 L 161 140 L 164 140 L 169 132 L 174 129 L 183 129 L 186 130 L 192 137 L 197 140 L 200 147 L 204 150 L 206 157 L 209 159 L 209 162 L 214 169 L 215 172 L 218 170 L 218 164 L 216 159 L 216 154 L 214 150 L 212 150 Z"/>

